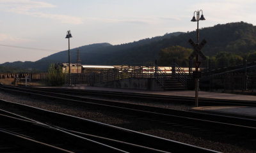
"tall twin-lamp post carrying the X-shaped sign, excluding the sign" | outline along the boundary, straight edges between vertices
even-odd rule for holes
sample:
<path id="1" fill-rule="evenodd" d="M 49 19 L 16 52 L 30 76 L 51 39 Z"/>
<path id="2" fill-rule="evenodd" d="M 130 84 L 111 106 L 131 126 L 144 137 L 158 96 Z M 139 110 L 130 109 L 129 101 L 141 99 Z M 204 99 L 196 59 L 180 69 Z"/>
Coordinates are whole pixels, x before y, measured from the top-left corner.
<path id="1" fill-rule="evenodd" d="M 200 12 L 202 12 L 202 15 L 199 18 Z M 195 13 L 196 13 L 196 17 L 195 17 Z M 196 45 L 199 45 L 199 20 L 205 20 L 204 15 L 203 15 L 203 10 L 194 11 L 194 16 L 193 16 L 193 18 L 191 20 L 191 22 L 197 22 Z M 198 59 L 198 54 L 196 54 L 195 65 L 196 65 L 196 73 L 197 73 L 198 72 L 198 68 L 200 66 L 200 61 Z M 196 107 L 198 107 L 198 89 L 199 89 L 199 77 L 195 77 L 195 106 Z"/>

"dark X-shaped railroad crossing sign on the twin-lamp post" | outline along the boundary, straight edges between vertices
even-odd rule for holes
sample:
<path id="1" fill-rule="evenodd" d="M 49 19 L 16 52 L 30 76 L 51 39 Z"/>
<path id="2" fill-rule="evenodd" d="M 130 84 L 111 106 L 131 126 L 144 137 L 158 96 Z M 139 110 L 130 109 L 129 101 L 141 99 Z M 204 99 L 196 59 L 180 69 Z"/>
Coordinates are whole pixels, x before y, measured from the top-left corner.
<path id="1" fill-rule="evenodd" d="M 200 57 L 202 57 L 202 59 L 206 59 L 205 55 L 201 52 L 201 49 L 204 47 L 205 43 L 207 43 L 206 40 L 203 40 L 199 45 L 195 44 L 193 40 L 189 39 L 188 41 L 190 43 L 190 45 L 194 48 L 194 52 L 189 56 L 189 59 L 193 59 L 195 57 L 195 55 L 200 55 Z"/>

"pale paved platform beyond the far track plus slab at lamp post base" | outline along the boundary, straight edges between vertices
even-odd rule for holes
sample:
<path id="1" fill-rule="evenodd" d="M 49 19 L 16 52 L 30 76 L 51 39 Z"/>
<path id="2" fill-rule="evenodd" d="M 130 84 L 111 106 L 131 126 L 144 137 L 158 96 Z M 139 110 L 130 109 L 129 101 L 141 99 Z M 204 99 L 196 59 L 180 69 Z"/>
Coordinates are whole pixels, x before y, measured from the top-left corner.
<path id="1" fill-rule="evenodd" d="M 136 89 L 116 89 L 116 88 L 105 88 L 105 87 L 89 87 L 86 85 L 77 85 L 76 87 L 66 87 L 71 89 L 85 89 L 92 91 L 116 91 L 116 92 L 134 92 L 134 93 L 145 93 L 145 94 L 160 94 L 169 96 L 186 96 L 195 97 L 195 91 L 142 91 Z M 241 95 L 241 94 L 227 94 L 219 92 L 198 92 L 199 98 L 212 98 L 212 99 L 234 99 L 241 101 L 255 101 L 256 96 Z M 195 111 L 210 112 L 217 114 L 230 114 L 237 117 L 248 117 L 256 119 L 256 107 L 252 106 L 204 106 L 191 108 Z"/>

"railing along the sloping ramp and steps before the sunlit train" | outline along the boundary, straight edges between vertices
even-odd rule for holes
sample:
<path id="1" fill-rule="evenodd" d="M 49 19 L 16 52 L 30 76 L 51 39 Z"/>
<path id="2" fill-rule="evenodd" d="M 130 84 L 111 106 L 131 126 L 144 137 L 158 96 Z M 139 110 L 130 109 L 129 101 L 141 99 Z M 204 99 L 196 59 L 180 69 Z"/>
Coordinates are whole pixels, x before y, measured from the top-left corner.
<path id="1" fill-rule="evenodd" d="M 175 68 L 173 75 L 173 68 Z M 157 82 L 164 86 L 166 80 L 178 78 L 180 82 L 186 85 L 185 71 L 177 64 L 174 67 L 159 68 L 157 66 L 120 66 L 115 69 L 108 69 L 93 73 L 86 73 L 81 75 L 72 75 L 72 84 L 86 83 L 95 84 L 96 82 L 111 82 L 115 80 L 122 80 L 126 78 L 156 78 Z"/>

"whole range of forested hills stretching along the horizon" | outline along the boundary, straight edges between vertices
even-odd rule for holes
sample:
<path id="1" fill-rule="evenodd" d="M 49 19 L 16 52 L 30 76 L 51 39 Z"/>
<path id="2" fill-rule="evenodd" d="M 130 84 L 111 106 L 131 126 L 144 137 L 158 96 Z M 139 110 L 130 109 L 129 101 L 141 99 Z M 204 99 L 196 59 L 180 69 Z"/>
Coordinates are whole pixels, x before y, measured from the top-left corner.
<path id="1" fill-rule="evenodd" d="M 256 52 L 255 36 L 256 27 L 245 22 L 218 24 L 214 25 L 214 27 L 200 29 L 200 41 L 203 39 L 207 41 L 202 52 L 207 56 L 216 55 L 219 52 L 232 52 L 241 56 L 249 52 Z M 134 64 L 158 59 L 159 52 L 164 48 L 176 45 L 191 48 L 188 43 L 189 38 L 196 41 L 196 32 L 171 33 L 122 45 L 103 43 L 97 44 L 97 47 L 91 46 L 93 49 L 88 48 L 90 45 L 79 48 L 81 50 L 80 54 L 83 64 Z M 72 62 L 76 61 L 76 50 L 77 48 L 71 50 Z M 63 51 L 29 64 L 32 64 L 33 68 L 45 70 L 47 69 L 47 64 L 45 63 L 67 62 L 67 60 L 68 53 L 67 51 Z M 8 66 L 11 66 L 10 64 Z M 24 67 L 23 64 L 22 68 L 28 67 Z"/>

